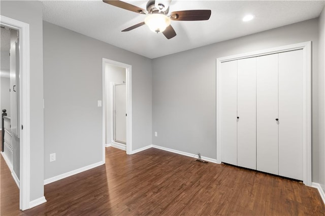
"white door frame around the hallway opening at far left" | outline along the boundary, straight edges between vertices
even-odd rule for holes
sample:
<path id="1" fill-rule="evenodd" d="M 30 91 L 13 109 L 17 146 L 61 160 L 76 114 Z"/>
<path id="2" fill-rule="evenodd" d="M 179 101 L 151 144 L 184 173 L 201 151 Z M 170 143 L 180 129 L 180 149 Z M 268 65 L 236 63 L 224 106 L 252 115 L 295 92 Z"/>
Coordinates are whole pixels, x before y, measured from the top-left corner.
<path id="1" fill-rule="evenodd" d="M 19 208 L 26 210 L 30 208 L 29 24 L 5 16 L 0 23 L 19 31 L 19 122 L 24 127 L 20 129 Z"/>

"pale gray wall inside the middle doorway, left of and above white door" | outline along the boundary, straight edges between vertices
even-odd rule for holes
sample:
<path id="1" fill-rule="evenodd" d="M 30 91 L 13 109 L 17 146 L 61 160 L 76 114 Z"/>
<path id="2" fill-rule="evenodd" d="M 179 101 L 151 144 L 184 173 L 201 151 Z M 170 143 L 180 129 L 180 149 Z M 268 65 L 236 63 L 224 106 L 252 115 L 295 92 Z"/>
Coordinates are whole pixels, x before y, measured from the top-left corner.
<path id="1" fill-rule="evenodd" d="M 111 64 L 105 65 L 106 78 L 106 136 L 105 144 L 111 144 L 112 136 L 112 87 L 111 83 L 126 82 L 126 69 Z M 104 101 L 103 101 L 104 102 Z"/>

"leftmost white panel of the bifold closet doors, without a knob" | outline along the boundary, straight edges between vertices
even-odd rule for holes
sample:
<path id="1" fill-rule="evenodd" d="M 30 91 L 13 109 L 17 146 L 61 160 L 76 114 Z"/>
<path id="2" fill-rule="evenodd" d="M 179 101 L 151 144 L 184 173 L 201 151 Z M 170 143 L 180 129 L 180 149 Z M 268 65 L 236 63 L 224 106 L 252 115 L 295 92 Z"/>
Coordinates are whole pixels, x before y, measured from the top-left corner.
<path id="1" fill-rule="evenodd" d="M 237 165 L 237 61 L 221 63 L 221 160 Z"/>

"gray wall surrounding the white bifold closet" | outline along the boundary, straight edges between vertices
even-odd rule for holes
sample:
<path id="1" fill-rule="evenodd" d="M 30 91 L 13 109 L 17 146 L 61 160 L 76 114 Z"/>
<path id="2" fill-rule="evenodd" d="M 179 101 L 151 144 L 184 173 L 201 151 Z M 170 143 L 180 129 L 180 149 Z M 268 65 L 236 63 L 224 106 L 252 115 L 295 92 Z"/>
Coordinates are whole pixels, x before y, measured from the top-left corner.
<path id="1" fill-rule="evenodd" d="M 318 182 L 318 19 L 153 59 L 153 145 L 216 159 L 216 58 L 312 41 L 312 170 Z"/>

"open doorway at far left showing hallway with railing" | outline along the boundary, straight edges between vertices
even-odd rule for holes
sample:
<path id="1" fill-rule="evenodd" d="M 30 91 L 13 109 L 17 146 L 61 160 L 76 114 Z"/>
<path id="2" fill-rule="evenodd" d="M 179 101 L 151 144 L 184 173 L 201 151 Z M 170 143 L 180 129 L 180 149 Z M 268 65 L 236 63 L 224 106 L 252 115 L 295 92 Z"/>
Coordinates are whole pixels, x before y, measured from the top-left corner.
<path id="1" fill-rule="evenodd" d="M 1 99 L 3 120 L 1 154 L 18 186 L 20 174 L 19 140 L 19 31 L 1 25 Z"/>

